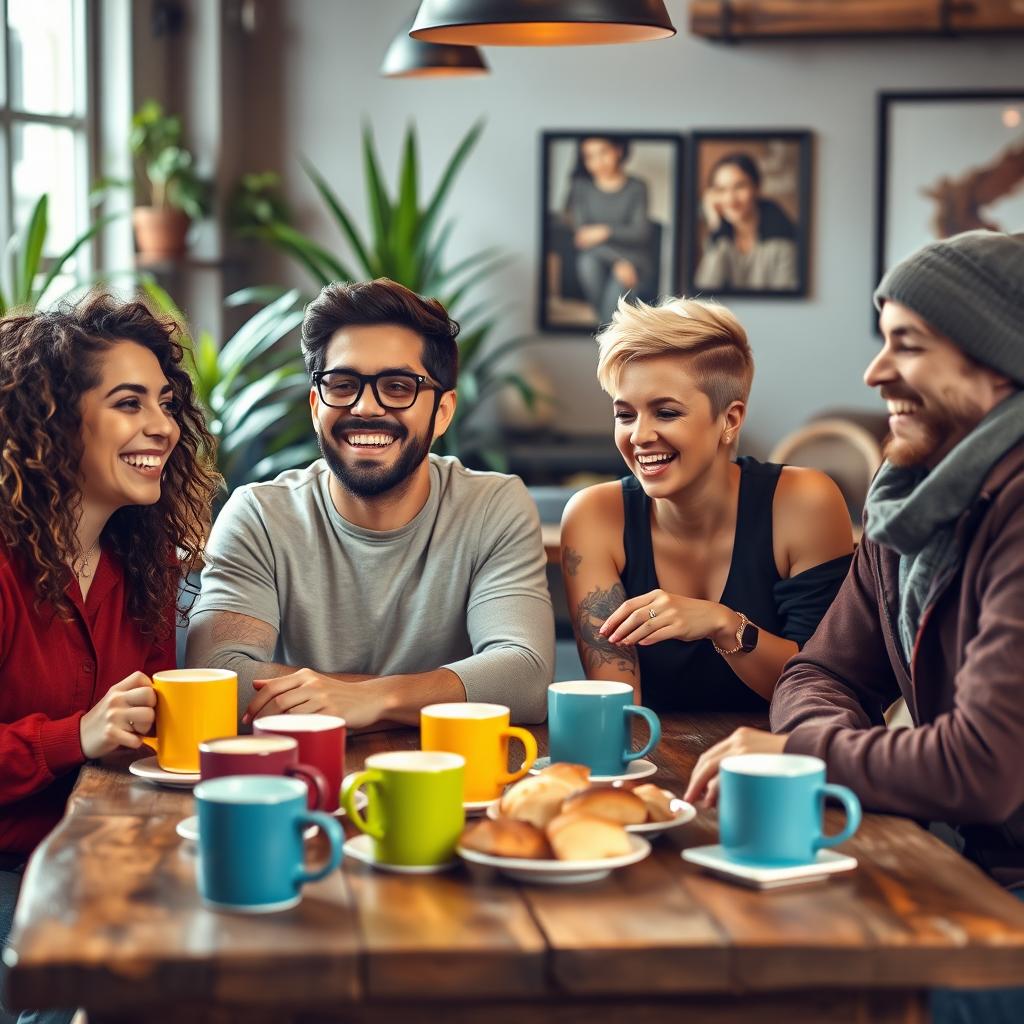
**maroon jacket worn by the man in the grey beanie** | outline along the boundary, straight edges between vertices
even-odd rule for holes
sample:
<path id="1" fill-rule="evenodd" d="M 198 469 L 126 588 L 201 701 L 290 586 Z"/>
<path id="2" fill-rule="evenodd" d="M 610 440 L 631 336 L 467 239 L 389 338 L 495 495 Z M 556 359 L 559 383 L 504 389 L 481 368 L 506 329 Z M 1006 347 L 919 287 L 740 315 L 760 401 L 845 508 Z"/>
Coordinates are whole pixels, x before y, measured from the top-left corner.
<path id="1" fill-rule="evenodd" d="M 870 810 L 945 821 L 1005 885 L 1024 884 L 1024 449 L 956 524 L 959 572 L 926 612 L 904 668 L 899 555 L 864 540 L 771 703 L 785 750 L 813 754 Z M 887 729 L 906 698 L 916 728 Z"/>

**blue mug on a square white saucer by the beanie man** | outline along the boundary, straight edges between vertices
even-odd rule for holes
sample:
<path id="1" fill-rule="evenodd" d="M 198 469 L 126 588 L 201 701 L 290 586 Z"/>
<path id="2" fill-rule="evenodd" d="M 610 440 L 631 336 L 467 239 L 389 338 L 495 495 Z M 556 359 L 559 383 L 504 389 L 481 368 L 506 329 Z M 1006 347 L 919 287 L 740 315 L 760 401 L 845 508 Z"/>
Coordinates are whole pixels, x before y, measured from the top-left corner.
<path id="1" fill-rule="evenodd" d="M 825 836 L 825 797 L 846 809 L 846 827 Z M 802 754 L 739 754 L 719 766 L 718 825 L 725 855 L 758 867 L 809 864 L 860 824 L 860 801 L 825 782 L 825 763 Z"/>

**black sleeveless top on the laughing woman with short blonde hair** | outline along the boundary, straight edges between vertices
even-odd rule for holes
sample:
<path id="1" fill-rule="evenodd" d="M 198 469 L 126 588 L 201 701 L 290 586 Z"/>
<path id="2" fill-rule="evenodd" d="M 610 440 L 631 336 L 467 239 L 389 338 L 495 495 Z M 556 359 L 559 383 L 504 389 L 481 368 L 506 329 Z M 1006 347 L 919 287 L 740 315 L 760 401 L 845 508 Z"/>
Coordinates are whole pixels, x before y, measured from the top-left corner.
<path id="1" fill-rule="evenodd" d="M 734 611 L 742 611 L 760 629 L 784 635 L 783 614 L 775 595 L 780 580 L 772 544 L 772 501 L 782 467 L 748 457 L 736 462 L 740 470 L 736 536 L 729 574 L 719 601 Z M 624 477 L 622 482 L 626 548 L 622 581 L 627 597 L 639 597 L 660 586 L 650 539 L 650 499 L 636 477 Z M 849 566 L 850 559 L 847 556 L 834 561 Z M 845 571 L 844 568 L 840 580 Z M 821 608 L 822 613 L 831 597 Z M 634 650 L 640 659 L 643 702 L 654 711 L 766 711 L 768 708 L 768 701 L 755 693 L 729 668 L 728 662 L 715 652 L 711 640 L 663 640 L 649 647 L 637 645 Z"/>

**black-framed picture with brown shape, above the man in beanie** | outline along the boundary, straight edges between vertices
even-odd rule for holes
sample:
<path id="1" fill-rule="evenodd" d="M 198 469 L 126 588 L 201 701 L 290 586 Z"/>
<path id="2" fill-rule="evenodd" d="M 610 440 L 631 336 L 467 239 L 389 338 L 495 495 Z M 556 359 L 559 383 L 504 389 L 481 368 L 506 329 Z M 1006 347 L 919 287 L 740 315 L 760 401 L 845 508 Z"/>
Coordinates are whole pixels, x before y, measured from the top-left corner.
<path id="1" fill-rule="evenodd" d="M 1024 91 L 879 94 L 876 284 L 929 242 L 1024 230 Z"/>

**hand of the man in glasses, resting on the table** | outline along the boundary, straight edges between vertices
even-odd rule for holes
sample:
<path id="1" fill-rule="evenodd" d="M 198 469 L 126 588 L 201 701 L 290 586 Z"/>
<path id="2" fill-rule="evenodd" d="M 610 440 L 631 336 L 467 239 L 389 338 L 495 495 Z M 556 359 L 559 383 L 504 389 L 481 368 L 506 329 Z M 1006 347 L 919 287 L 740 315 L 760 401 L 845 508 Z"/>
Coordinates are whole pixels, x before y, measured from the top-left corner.
<path id="1" fill-rule="evenodd" d="M 338 715 L 350 729 L 384 718 L 387 691 L 375 681 L 348 682 L 300 669 L 276 679 L 254 679 L 256 696 L 242 721 L 248 725 L 266 715 Z"/>

